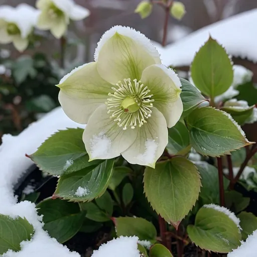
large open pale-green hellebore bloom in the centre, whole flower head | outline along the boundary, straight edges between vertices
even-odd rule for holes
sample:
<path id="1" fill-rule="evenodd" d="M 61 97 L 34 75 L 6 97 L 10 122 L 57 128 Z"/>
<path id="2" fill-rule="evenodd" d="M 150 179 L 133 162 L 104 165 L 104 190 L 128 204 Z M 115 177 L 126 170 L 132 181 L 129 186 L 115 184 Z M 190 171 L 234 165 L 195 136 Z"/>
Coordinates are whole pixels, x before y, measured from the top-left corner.
<path id="1" fill-rule="evenodd" d="M 115 26 L 95 52 L 95 62 L 66 75 L 59 101 L 74 121 L 87 123 L 83 141 L 90 160 L 122 155 L 155 167 L 168 144 L 168 127 L 179 120 L 181 83 L 161 65 L 144 35 Z"/>

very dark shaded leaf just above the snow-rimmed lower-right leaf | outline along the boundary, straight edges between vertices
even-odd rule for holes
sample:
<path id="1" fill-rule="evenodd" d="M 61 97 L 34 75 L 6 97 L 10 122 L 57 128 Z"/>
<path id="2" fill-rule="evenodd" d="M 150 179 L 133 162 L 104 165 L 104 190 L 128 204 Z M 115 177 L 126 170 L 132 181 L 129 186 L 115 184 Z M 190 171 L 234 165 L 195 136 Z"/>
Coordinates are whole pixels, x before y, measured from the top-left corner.
<path id="1" fill-rule="evenodd" d="M 236 191 L 225 192 L 225 206 L 234 213 L 244 210 L 249 203 L 249 197 L 243 197 L 242 194 Z"/>

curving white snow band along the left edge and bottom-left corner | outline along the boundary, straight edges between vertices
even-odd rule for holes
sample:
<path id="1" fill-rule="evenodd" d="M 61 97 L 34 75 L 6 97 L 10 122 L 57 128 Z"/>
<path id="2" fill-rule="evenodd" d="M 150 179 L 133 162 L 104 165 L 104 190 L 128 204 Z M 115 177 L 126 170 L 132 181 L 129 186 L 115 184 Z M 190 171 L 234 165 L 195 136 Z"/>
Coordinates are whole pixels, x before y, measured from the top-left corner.
<path id="1" fill-rule="evenodd" d="M 70 120 L 58 107 L 41 120 L 32 123 L 19 136 L 4 135 L 0 146 L 0 213 L 11 217 L 21 216 L 33 224 L 35 235 L 30 242 L 24 242 L 19 252 L 8 251 L 4 257 L 79 257 L 66 246 L 58 243 L 42 229 L 42 217 L 37 215 L 34 203 L 17 203 L 13 186 L 33 164 L 25 154 L 33 154 L 37 148 L 57 130 L 67 127 L 84 127 Z"/>

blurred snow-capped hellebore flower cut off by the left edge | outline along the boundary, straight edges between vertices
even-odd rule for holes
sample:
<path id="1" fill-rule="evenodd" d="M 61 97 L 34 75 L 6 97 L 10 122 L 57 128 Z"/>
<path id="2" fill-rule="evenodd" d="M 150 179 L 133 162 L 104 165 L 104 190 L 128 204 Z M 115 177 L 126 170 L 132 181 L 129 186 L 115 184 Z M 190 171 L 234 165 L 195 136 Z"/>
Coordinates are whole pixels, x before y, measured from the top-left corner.
<path id="1" fill-rule="evenodd" d="M 23 52 L 29 45 L 29 36 L 36 25 L 39 12 L 35 8 L 21 4 L 16 8 L 0 8 L 0 43 L 13 42 L 15 48 Z"/>

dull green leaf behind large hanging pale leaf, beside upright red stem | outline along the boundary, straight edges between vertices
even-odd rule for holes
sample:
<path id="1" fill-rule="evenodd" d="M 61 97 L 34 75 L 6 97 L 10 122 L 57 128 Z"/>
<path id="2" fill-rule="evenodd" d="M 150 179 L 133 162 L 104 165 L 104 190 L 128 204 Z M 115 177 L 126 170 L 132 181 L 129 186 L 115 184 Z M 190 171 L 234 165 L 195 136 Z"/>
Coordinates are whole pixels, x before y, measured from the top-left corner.
<path id="1" fill-rule="evenodd" d="M 206 162 L 196 164 L 201 176 L 202 188 L 199 197 L 203 204 L 219 203 L 219 178 L 218 170 Z M 229 180 L 223 177 L 224 189 L 227 189 Z"/>

